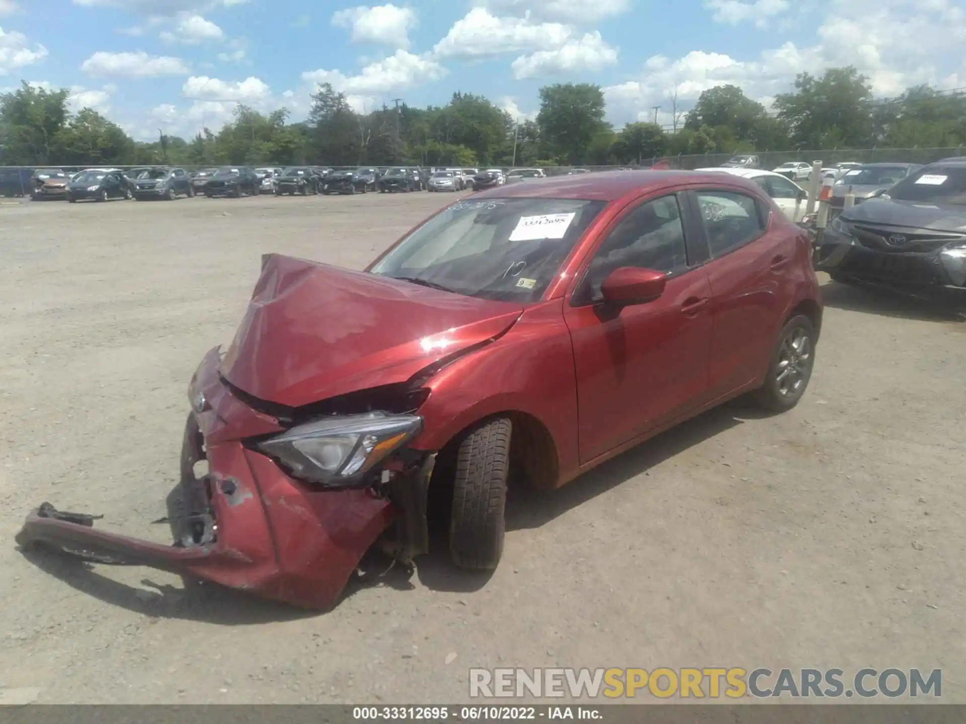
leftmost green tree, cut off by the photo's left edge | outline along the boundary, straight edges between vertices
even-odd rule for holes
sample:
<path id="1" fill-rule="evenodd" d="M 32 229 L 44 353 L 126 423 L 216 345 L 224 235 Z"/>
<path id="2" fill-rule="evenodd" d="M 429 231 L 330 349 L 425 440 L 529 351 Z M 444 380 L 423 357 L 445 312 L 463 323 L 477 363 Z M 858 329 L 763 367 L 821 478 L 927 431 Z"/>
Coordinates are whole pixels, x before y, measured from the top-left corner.
<path id="1" fill-rule="evenodd" d="M 69 91 L 47 91 L 26 81 L 0 96 L 0 128 L 8 164 L 47 164 L 55 160 L 54 139 L 70 118 Z"/>

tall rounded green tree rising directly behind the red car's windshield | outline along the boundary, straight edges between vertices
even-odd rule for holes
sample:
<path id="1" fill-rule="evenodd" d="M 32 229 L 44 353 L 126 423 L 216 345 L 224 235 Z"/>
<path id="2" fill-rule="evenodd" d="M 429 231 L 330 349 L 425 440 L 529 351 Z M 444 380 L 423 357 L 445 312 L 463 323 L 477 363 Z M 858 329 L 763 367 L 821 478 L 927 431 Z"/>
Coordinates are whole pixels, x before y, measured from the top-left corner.
<path id="1" fill-rule="evenodd" d="M 537 124 L 554 155 L 581 163 L 594 136 L 605 130 L 604 94 L 590 83 L 557 83 L 540 89 Z"/>

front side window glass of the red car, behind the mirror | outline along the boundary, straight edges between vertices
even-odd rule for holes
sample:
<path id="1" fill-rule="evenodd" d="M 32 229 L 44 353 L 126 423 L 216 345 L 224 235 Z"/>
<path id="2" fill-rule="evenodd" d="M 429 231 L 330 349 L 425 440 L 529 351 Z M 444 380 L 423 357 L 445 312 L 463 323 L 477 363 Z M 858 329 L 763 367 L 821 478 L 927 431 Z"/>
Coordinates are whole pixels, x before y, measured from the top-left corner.
<path id="1" fill-rule="evenodd" d="M 581 285 L 574 293 L 574 304 L 589 304 L 601 299 L 601 284 L 611 271 L 622 266 L 654 269 L 668 274 L 688 267 L 681 209 L 676 196 L 641 204 L 614 227 L 597 249 Z"/>

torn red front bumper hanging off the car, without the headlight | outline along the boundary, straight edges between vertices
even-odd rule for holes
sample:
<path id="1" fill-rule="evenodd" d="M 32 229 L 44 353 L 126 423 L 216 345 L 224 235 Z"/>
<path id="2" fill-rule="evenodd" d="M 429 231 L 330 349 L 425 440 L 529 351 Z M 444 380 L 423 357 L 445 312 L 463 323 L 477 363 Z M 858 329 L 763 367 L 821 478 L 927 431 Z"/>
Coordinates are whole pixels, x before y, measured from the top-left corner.
<path id="1" fill-rule="evenodd" d="M 425 508 L 404 487 L 395 505 L 372 488 L 321 491 L 287 476 L 270 458 L 242 439 L 280 430 L 278 421 L 241 403 L 218 375 L 217 348 L 192 380 L 195 409 L 185 427 L 180 500 L 170 521 L 173 545 L 152 543 L 95 529 L 94 518 L 60 513 L 44 504 L 27 516 L 16 537 L 95 563 L 148 566 L 201 578 L 311 609 L 333 605 L 359 559 L 384 530 L 403 515 L 425 524 Z M 209 473 L 194 467 L 207 459 Z M 430 464 L 429 470 L 432 466 Z M 419 483 L 420 481 L 416 481 Z M 169 498 L 170 499 L 170 498 Z M 418 501 L 418 495 L 416 496 Z M 421 520 L 419 515 L 423 516 Z M 416 537 L 419 539 L 419 536 Z M 425 542 L 417 540 L 417 549 Z"/>

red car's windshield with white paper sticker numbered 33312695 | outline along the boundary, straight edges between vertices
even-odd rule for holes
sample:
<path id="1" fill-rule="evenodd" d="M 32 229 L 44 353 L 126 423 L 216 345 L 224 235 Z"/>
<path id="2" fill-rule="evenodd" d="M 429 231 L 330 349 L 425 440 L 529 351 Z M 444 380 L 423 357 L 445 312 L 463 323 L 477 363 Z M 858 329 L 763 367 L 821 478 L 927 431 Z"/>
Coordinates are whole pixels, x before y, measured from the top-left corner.
<path id="1" fill-rule="evenodd" d="M 372 271 L 484 299 L 539 299 L 602 201 L 512 198 L 443 209 Z"/>

